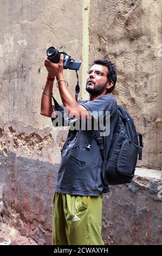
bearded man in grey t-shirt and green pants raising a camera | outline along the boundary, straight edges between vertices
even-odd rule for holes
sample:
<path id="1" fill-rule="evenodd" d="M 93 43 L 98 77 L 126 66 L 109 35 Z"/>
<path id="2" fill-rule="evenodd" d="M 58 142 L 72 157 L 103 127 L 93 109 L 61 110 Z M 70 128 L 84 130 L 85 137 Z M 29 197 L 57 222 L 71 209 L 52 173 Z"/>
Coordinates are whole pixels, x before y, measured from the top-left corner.
<path id="1" fill-rule="evenodd" d="M 108 154 L 117 118 L 117 104 L 109 95 L 116 83 L 116 69 L 106 59 L 96 60 L 88 71 L 86 90 L 89 99 L 76 102 L 63 78 L 63 54 L 54 64 L 45 59 L 48 71 L 43 89 L 41 114 L 56 119 L 56 111 L 68 125 L 76 117 L 80 121 L 99 121 L 100 114 L 110 112 L 110 134 L 105 139 Z M 56 77 L 63 105 L 51 96 Z M 66 114 L 64 113 L 66 107 Z M 67 118 L 66 118 L 67 115 Z M 105 115 L 103 115 L 105 117 Z M 57 124 L 58 125 L 58 124 Z M 55 126 L 57 126 L 55 124 Z M 70 130 L 62 149 L 62 160 L 53 201 L 53 245 L 103 245 L 101 237 L 102 193 L 108 188 L 103 182 L 103 161 L 92 130 Z M 87 159 L 87 161 L 85 161 Z"/>

